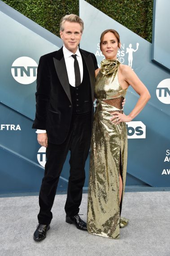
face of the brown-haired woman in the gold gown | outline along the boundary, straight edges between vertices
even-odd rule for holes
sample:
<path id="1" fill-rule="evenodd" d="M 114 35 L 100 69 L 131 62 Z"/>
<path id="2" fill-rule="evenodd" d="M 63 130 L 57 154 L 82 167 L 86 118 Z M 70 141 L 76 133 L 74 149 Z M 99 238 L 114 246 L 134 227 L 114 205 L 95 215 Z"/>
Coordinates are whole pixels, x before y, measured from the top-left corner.
<path id="1" fill-rule="evenodd" d="M 119 44 L 120 47 L 120 44 Z M 106 59 L 116 59 L 118 53 L 118 39 L 112 32 L 104 35 L 101 43 L 101 51 Z"/>

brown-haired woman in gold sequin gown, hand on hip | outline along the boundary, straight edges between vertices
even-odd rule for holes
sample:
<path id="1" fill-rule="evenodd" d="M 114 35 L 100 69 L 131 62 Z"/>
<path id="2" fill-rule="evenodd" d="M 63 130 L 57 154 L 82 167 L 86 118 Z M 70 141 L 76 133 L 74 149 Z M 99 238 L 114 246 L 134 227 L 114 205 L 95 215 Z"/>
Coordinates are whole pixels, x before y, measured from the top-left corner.
<path id="1" fill-rule="evenodd" d="M 96 71 L 97 102 L 92 131 L 87 210 L 88 232 L 113 239 L 118 239 L 120 235 L 126 181 L 125 122 L 133 120 L 150 99 L 148 89 L 131 67 L 118 61 L 120 46 L 117 31 L 109 29 L 101 34 L 100 49 L 105 59 Z M 140 97 L 131 113 L 125 115 L 122 101 L 130 84 Z M 127 221 L 124 219 L 124 225 Z"/>

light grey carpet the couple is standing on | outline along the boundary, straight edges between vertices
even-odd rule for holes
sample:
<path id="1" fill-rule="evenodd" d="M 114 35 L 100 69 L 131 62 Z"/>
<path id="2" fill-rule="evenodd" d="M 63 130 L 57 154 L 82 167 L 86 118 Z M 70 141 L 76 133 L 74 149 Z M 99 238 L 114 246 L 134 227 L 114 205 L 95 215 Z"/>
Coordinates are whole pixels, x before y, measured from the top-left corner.
<path id="1" fill-rule="evenodd" d="M 170 192 L 131 192 L 122 216 L 129 225 L 119 240 L 77 230 L 65 223 L 66 195 L 57 195 L 47 238 L 34 242 L 38 196 L 0 198 L 0 256 L 170 256 Z M 87 194 L 80 213 L 87 214 Z"/>

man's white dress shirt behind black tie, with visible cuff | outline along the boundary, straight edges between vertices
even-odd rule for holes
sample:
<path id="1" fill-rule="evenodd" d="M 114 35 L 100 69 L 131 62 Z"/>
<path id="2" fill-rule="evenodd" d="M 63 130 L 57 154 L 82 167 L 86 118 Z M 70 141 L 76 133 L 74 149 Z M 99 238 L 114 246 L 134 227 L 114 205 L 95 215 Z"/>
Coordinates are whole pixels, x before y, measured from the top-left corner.
<path id="1" fill-rule="evenodd" d="M 74 58 L 71 57 L 71 55 L 73 55 L 72 52 L 70 52 L 65 45 L 63 45 L 63 53 L 64 53 L 64 59 L 65 59 L 65 65 L 66 65 L 66 69 L 67 69 L 67 75 L 69 78 L 69 84 L 71 86 L 75 87 L 75 73 L 74 73 Z M 74 53 L 77 55 L 77 60 L 78 60 L 78 65 L 79 65 L 79 69 L 80 69 L 80 77 L 81 77 L 81 83 L 83 80 L 83 61 L 82 61 L 82 56 L 79 52 L 79 49 L 77 49 L 76 53 Z M 45 133 L 46 130 L 36 130 L 36 133 Z"/>

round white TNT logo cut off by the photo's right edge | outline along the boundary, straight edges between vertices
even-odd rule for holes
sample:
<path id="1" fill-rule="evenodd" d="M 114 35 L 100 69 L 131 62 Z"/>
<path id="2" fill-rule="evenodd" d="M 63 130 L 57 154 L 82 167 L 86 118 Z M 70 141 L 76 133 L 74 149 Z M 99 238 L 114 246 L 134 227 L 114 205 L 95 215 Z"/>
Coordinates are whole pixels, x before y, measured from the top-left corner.
<path id="1" fill-rule="evenodd" d="M 162 80 L 157 86 L 157 98 L 164 104 L 170 104 L 170 78 Z"/>

